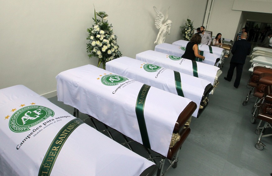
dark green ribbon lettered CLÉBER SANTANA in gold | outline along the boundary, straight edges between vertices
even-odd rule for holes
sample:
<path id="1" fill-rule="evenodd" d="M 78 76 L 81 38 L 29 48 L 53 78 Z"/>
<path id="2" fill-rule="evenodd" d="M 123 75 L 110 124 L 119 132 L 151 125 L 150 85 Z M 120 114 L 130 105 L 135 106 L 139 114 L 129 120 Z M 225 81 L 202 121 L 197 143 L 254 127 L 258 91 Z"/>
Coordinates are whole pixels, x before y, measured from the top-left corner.
<path id="1" fill-rule="evenodd" d="M 82 123 L 84 122 L 81 119 L 75 118 L 61 128 L 45 154 L 45 157 L 41 163 L 40 171 L 38 174 L 39 176 L 50 175 L 60 150 L 64 145 L 64 142 L 67 140 L 70 134 Z"/>

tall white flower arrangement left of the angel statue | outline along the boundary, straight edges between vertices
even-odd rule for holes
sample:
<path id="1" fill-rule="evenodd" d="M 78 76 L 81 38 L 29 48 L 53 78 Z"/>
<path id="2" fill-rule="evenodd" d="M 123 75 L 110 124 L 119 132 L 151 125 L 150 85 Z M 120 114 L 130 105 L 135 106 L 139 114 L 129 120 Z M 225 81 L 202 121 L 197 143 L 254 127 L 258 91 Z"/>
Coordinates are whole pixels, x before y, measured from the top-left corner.
<path id="1" fill-rule="evenodd" d="M 102 63 L 103 69 L 105 69 L 106 62 L 120 58 L 122 53 L 119 51 L 117 36 L 112 31 L 112 24 L 109 25 L 107 21 L 106 12 L 95 12 L 94 9 L 94 16 L 93 26 L 87 29 L 89 33 L 87 53 L 90 53 L 88 54 L 89 58 L 97 57 L 99 59 L 97 67 Z M 97 19 L 97 16 L 102 20 Z"/>

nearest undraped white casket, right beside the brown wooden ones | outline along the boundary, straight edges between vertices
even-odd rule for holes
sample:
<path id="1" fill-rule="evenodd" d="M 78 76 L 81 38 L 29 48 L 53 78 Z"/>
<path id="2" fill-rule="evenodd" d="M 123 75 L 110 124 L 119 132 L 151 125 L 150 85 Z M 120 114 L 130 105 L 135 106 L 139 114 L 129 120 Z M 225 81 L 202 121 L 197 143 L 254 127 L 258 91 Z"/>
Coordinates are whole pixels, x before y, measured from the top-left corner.
<path id="1" fill-rule="evenodd" d="M 272 55 L 271 55 L 272 56 Z M 272 67 L 272 57 L 257 55 L 250 60 L 251 67 L 248 71 L 253 72 L 253 68 L 256 66 L 271 68 Z"/>

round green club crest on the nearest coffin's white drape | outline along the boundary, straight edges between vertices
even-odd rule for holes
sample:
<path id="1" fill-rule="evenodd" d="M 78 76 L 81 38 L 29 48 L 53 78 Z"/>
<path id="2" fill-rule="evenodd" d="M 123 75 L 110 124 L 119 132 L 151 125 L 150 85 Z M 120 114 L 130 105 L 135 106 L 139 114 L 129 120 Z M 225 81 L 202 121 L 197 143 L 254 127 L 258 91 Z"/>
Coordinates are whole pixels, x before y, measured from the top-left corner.
<path id="1" fill-rule="evenodd" d="M 48 117 L 54 116 L 54 111 L 44 106 L 26 106 L 17 110 L 9 121 L 13 132 L 26 132 L 30 127 L 41 123 Z"/>

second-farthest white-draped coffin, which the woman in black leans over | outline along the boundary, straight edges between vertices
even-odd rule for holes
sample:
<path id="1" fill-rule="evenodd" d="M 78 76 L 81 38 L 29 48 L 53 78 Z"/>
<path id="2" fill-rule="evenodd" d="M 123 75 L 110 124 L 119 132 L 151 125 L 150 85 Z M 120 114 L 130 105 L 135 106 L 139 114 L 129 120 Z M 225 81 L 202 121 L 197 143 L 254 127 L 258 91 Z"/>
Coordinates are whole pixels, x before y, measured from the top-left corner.
<path id="1" fill-rule="evenodd" d="M 167 43 L 162 43 L 158 44 L 155 46 L 155 51 L 161 52 L 161 53 L 166 53 L 169 55 L 181 57 L 185 53 L 185 47 L 173 45 L 173 44 L 167 44 Z M 217 57 L 217 55 L 212 54 L 212 53 L 207 53 L 207 52 L 200 52 L 200 55 L 204 56 L 205 59 L 199 59 L 196 58 L 196 61 L 206 63 L 209 65 L 214 65 L 218 66 L 218 62 L 220 58 Z"/>

